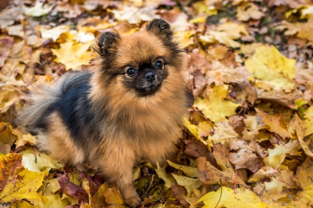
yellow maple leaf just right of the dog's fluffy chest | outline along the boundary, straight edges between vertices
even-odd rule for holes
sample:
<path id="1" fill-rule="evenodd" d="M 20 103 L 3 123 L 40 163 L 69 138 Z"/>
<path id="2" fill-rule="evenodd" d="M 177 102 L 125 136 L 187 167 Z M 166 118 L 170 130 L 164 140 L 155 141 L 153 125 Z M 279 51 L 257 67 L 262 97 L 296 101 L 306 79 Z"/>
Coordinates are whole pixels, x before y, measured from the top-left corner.
<path id="1" fill-rule="evenodd" d="M 235 109 L 240 106 L 224 98 L 227 95 L 228 85 L 217 85 L 212 88 L 208 98 L 197 97 L 194 106 L 202 110 L 205 117 L 213 122 L 225 120 L 225 116 L 235 114 Z"/>

